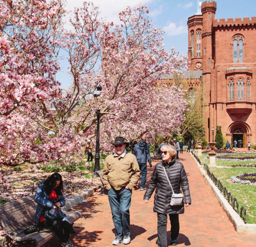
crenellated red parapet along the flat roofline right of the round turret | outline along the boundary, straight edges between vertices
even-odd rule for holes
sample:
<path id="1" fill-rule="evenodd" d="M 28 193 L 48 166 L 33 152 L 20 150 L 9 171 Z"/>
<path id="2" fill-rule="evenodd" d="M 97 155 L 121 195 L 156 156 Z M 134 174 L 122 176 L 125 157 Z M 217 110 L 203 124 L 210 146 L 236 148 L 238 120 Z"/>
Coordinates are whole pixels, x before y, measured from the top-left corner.
<path id="1" fill-rule="evenodd" d="M 234 20 L 233 18 L 220 18 L 214 19 L 212 22 L 213 27 L 231 27 L 231 26 L 253 26 L 256 25 L 256 17 L 252 17 L 250 20 L 250 17 L 244 17 L 243 20 L 241 17 L 236 17 Z"/>

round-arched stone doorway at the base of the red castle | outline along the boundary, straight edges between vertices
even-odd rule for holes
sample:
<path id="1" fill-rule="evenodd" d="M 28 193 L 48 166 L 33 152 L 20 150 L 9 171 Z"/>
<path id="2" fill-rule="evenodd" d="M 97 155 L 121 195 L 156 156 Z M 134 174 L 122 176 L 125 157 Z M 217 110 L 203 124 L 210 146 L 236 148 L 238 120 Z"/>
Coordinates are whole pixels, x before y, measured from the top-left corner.
<path id="1" fill-rule="evenodd" d="M 236 140 L 237 146 L 239 140 L 242 140 L 242 147 L 246 147 L 247 143 L 250 141 L 252 136 L 250 126 L 243 121 L 236 121 L 230 124 L 227 131 L 227 138 L 230 143 L 234 144 Z"/>

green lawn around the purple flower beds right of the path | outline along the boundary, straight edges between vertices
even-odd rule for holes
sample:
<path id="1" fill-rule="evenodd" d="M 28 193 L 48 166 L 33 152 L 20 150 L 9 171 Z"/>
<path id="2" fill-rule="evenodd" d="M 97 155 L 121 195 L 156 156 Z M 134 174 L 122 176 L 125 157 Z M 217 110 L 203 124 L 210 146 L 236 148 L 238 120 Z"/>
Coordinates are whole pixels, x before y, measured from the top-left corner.
<path id="1" fill-rule="evenodd" d="M 202 154 L 203 156 L 199 157 L 201 164 L 209 164 L 209 159 L 207 158 L 208 154 Z M 216 154 L 220 156 L 221 154 Z M 248 155 L 243 154 L 234 154 L 233 157 L 246 157 Z M 250 154 L 250 156 L 252 156 Z M 216 159 L 216 165 L 219 168 L 210 168 L 210 171 L 221 181 L 223 187 L 227 188 L 227 191 L 231 192 L 231 195 L 236 197 L 236 200 L 239 203 L 239 210 L 241 206 L 244 206 L 246 209 L 247 223 L 256 224 L 256 184 L 234 184 L 230 178 L 232 176 L 241 175 L 244 173 L 256 173 L 256 167 L 232 167 L 232 165 L 239 164 L 256 164 L 256 155 L 255 159 L 250 159 L 247 161 L 230 161 L 230 160 L 218 160 Z M 227 168 L 220 168 L 220 166 L 225 166 Z M 236 207 L 235 207 L 236 208 Z"/>

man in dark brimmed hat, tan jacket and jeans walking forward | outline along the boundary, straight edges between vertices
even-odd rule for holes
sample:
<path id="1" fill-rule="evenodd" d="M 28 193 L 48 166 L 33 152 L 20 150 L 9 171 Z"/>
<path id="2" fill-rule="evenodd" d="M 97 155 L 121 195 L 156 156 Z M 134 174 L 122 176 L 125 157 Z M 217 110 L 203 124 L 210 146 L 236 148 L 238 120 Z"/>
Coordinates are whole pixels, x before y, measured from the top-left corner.
<path id="1" fill-rule="evenodd" d="M 140 178 L 140 169 L 135 155 L 126 152 L 125 138 L 117 136 L 112 143 L 114 152 L 105 159 L 102 178 L 108 190 L 108 200 L 116 229 L 113 245 L 129 244 L 132 188 Z"/>

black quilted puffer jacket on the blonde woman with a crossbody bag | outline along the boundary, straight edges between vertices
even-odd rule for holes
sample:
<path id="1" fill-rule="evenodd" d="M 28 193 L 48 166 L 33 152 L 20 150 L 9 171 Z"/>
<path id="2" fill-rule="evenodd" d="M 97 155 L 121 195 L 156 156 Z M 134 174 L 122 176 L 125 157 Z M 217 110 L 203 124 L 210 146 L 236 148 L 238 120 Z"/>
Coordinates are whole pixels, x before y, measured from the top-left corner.
<path id="1" fill-rule="evenodd" d="M 180 206 L 171 206 L 172 189 L 167 181 L 163 167 L 172 184 L 175 193 L 181 193 L 180 187 L 184 194 L 183 204 Z M 191 204 L 189 191 L 189 181 L 186 176 L 183 164 L 176 161 L 175 158 L 168 164 L 161 161 L 155 165 L 154 172 L 148 184 L 144 195 L 144 200 L 148 200 L 156 189 L 154 195 L 154 212 L 163 214 L 181 214 L 184 213 L 184 203 Z"/>

